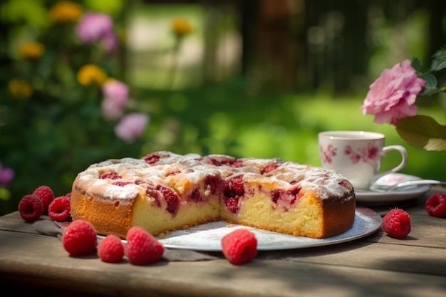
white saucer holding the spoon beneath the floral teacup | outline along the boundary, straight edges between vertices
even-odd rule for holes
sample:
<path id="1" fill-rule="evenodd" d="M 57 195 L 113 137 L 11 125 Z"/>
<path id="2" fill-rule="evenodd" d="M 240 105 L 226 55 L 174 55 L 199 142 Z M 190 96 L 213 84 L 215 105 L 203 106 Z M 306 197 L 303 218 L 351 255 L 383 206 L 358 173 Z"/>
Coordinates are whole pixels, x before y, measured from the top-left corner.
<path id="1" fill-rule="evenodd" d="M 414 175 L 408 175 L 403 173 L 391 173 L 383 177 L 380 177 L 375 186 L 392 186 L 398 184 L 398 182 L 405 182 L 407 180 L 422 179 L 415 177 Z M 392 192 L 374 192 L 374 191 L 356 191 L 356 201 L 363 202 L 368 205 L 378 204 L 392 204 L 398 201 L 404 201 L 420 197 L 430 190 L 430 185 L 422 184 L 408 187 L 400 187 Z"/>

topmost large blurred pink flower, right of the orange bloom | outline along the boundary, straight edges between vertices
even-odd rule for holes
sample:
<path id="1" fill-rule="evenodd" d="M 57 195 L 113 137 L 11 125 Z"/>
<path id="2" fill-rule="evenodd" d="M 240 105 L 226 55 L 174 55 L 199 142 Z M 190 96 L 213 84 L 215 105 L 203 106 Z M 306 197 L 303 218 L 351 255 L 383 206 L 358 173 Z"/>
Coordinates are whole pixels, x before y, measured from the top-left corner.
<path id="1" fill-rule="evenodd" d="M 76 34 L 83 43 L 93 43 L 113 33 L 113 20 L 108 14 L 84 14 L 76 26 Z"/>

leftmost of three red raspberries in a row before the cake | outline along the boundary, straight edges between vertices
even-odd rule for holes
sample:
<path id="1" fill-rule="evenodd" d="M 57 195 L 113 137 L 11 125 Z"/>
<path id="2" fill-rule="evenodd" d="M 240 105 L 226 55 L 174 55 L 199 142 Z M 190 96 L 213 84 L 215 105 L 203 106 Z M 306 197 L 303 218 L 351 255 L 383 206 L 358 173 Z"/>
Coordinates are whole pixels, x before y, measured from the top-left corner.
<path id="1" fill-rule="evenodd" d="M 93 254 L 98 236 L 95 229 L 83 219 L 71 222 L 62 233 L 63 248 L 70 256 L 85 256 Z"/>

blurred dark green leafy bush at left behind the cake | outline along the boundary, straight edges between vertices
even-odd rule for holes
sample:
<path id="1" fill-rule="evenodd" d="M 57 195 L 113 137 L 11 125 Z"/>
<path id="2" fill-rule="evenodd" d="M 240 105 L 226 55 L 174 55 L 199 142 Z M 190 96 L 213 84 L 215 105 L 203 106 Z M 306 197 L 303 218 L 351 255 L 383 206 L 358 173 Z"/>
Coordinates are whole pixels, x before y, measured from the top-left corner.
<path id="1" fill-rule="evenodd" d="M 19 0 L 0 7 L 7 29 L 0 43 L 0 162 L 15 172 L 7 189 L 11 198 L 0 200 L 1 214 L 15 210 L 21 197 L 41 184 L 56 196 L 71 192 L 88 164 L 140 155 L 143 140 L 123 142 L 115 136 L 116 121 L 103 117 L 100 85 L 77 79 L 85 64 L 119 79 L 119 52 L 110 56 L 98 44 L 82 44 L 73 22 L 52 22 L 49 9 L 56 3 Z M 30 42 L 24 56 L 21 45 Z"/>

